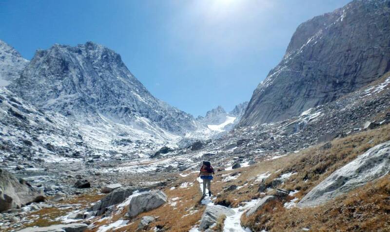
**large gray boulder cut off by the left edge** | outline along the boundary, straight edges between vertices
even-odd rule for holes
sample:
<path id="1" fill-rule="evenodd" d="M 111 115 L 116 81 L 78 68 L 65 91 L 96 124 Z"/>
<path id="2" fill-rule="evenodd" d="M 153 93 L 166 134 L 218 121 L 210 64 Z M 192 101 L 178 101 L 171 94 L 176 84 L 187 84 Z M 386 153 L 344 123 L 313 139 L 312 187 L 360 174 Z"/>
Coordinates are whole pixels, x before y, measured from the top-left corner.
<path id="1" fill-rule="evenodd" d="M 45 195 L 26 181 L 18 180 L 6 170 L 0 169 L 0 212 L 44 199 Z"/>

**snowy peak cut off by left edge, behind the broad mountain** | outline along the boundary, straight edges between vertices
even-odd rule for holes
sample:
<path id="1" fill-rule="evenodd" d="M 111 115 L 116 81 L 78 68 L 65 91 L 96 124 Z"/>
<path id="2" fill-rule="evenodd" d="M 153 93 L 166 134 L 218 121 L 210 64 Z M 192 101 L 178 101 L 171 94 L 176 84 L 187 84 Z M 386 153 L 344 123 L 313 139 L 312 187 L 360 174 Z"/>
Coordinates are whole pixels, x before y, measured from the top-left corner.
<path id="1" fill-rule="evenodd" d="M 19 78 L 20 72 L 26 67 L 28 60 L 24 59 L 13 47 L 0 40 L 0 87 L 7 86 Z"/>

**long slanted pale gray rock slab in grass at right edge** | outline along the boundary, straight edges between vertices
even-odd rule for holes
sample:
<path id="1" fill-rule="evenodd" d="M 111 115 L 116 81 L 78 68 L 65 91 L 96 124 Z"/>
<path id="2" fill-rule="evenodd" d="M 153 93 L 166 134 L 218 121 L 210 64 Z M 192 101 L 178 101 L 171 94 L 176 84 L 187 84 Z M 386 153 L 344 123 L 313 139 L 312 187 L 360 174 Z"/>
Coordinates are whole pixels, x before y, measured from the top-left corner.
<path id="1" fill-rule="evenodd" d="M 320 205 L 389 172 L 390 141 L 374 146 L 354 161 L 337 169 L 303 197 L 297 206 Z"/>

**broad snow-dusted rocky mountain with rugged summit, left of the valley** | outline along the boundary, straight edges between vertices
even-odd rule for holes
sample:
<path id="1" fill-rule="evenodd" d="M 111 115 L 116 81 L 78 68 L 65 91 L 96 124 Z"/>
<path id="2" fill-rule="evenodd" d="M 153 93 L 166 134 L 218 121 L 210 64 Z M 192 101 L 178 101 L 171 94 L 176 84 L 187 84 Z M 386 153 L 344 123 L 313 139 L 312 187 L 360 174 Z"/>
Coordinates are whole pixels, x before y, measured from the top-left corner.
<path id="1" fill-rule="evenodd" d="M 78 120 L 104 117 L 150 133 L 195 128 L 191 115 L 155 98 L 119 54 L 92 42 L 38 51 L 8 88 L 37 107 Z"/>

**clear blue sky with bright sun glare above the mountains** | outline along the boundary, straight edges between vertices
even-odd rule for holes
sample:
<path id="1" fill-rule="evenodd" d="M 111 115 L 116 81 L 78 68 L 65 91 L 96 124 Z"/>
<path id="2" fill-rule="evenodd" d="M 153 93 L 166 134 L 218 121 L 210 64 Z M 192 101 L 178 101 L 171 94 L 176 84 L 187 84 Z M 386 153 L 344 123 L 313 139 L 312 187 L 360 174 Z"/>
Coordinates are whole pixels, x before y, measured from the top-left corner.
<path id="1" fill-rule="evenodd" d="M 86 41 L 122 56 L 157 98 L 231 110 L 281 60 L 296 27 L 349 0 L 0 0 L 0 39 L 31 59 Z"/>

